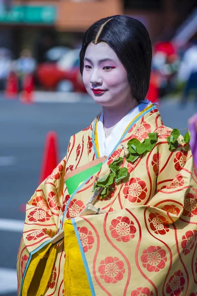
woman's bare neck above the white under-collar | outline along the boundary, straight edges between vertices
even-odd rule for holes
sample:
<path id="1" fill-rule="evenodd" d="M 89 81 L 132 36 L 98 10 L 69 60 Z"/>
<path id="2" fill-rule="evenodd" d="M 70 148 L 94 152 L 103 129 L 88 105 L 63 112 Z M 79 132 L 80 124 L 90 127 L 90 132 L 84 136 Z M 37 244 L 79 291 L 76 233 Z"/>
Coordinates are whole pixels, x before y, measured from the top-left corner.
<path id="1" fill-rule="evenodd" d="M 132 109 L 138 106 L 136 99 L 132 99 L 124 106 L 106 107 L 103 106 L 103 126 L 105 132 L 113 127 Z"/>

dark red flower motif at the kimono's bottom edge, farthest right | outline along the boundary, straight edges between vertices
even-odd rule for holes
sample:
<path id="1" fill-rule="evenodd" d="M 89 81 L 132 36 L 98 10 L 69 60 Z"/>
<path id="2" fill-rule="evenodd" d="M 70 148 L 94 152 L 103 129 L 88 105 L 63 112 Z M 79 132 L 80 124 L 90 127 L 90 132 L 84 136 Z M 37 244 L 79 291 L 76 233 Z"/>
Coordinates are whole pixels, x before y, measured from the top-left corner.
<path id="1" fill-rule="evenodd" d="M 166 293 L 170 296 L 179 296 L 184 289 L 185 279 L 181 270 L 176 271 L 166 286 Z"/>

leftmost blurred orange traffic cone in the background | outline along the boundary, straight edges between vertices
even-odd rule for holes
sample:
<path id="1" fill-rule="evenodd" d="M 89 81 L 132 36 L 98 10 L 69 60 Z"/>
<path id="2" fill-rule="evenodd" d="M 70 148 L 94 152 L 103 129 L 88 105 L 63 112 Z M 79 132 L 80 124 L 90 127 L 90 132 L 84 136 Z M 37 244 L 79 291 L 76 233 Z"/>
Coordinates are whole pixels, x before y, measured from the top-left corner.
<path id="1" fill-rule="evenodd" d="M 5 98 L 15 99 L 18 94 L 18 78 L 16 73 L 10 72 L 7 76 L 6 86 L 5 86 Z"/>

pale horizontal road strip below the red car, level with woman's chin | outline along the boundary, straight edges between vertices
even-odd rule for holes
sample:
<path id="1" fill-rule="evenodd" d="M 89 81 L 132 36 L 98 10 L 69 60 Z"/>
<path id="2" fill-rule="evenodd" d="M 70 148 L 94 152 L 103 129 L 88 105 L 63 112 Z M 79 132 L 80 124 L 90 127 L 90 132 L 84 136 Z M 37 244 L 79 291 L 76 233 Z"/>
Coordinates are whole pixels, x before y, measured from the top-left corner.
<path id="1" fill-rule="evenodd" d="M 39 103 L 94 103 L 86 93 L 35 91 L 34 102 Z"/>

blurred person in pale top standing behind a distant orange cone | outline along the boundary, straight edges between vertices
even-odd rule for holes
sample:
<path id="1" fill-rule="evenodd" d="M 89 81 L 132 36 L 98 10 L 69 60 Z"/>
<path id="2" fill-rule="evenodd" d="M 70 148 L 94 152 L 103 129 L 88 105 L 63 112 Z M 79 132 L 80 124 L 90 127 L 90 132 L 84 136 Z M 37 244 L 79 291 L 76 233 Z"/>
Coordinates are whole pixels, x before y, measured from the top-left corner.
<path id="1" fill-rule="evenodd" d="M 15 62 L 15 69 L 19 77 L 19 89 L 22 90 L 25 76 L 34 74 L 36 70 L 36 60 L 33 58 L 30 49 L 21 51 L 20 57 Z"/>

